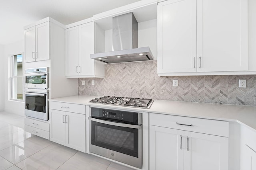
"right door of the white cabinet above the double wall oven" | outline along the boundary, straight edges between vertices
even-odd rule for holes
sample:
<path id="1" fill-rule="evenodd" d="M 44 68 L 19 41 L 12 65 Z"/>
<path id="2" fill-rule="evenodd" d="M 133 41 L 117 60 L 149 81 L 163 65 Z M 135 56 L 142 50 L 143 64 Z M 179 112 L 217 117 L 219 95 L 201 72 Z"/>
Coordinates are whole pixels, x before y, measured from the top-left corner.
<path id="1" fill-rule="evenodd" d="M 50 22 L 36 25 L 36 61 L 50 59 Z"/>

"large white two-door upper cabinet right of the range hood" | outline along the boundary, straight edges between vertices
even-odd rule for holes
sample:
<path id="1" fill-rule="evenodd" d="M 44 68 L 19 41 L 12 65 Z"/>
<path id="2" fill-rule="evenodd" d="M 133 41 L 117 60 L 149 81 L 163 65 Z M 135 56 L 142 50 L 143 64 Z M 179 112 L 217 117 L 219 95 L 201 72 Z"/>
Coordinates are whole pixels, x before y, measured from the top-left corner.
<path id="1" fill-rule="evenodd" d="M 247 0 L 158 3 L 158 75 L 248 70 L 247 3 Z"/>

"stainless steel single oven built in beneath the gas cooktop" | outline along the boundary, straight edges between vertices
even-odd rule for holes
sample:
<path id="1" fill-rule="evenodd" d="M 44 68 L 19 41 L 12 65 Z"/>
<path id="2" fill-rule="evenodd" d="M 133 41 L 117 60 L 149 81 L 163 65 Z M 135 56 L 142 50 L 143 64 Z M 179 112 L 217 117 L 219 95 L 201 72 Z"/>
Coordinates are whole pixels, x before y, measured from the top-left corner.
<path id="1" fill-rule="evenodd" d="M 90 107 L 90 152 L 142 168 L 142 113 Z"/>

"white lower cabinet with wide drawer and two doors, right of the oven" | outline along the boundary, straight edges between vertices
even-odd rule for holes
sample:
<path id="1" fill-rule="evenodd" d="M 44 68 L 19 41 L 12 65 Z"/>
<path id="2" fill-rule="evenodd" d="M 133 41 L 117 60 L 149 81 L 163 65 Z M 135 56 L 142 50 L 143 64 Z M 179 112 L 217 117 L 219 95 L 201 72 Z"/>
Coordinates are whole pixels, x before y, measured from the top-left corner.
<path id="1" fill-rule="evenodd" d="M 181 117 L 184 120 L 179 119 L 183 124 L 180 129 L 170 128 L 174 125 L 171 121 L 170 127 L 161 127 L 168 122 L 168 117 L 175 120 L 177 116 L 150 113 L 150 170 L 228 170 L 227 136 L 192 132 L 204 128 L 204 124 L 200 124 L 204 119 L 194 121 L 197 118 Z M 206 121 L 212 121 L 210 126 L 214 128 L 215 120 Z M 216 121 L 216 124 L 228 132 L 228 122 Z M 183 126 L 190 131 L 185 131 Z"/>

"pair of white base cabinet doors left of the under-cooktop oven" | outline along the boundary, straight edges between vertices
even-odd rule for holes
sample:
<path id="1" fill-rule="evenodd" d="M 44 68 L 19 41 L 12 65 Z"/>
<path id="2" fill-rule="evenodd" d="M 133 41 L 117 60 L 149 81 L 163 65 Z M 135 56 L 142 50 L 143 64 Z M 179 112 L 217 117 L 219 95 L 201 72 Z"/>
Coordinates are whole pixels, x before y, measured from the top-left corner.
<path id="1" fill-rule="evenodd" d="M 50 141 L 86 152 L 85 115 L 50 109 Z"/>

